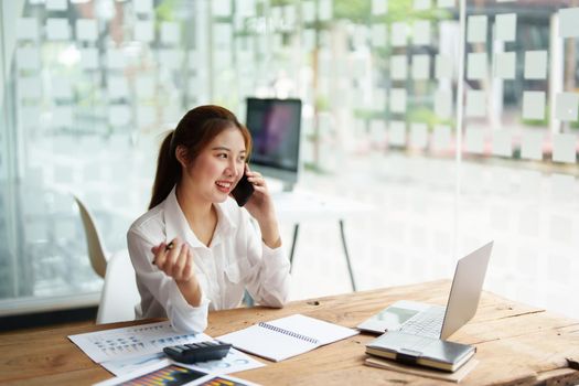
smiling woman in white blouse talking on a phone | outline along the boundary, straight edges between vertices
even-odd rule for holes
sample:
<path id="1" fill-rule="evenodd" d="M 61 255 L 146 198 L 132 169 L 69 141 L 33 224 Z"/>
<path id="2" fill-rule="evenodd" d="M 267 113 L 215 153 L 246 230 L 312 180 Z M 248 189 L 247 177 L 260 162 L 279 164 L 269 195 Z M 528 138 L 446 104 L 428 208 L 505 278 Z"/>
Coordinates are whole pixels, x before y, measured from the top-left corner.
<path id="1" fill-rule="evenodd" d="M 266 182 L 246 165 L 250 149 L 247 128 L 218 106 L 192 109 L 164 138 L 149 212 L 127 234 L 138 318 L 168 317 L 178 331 L 202 332 L 207 311 L 238 307 L 245 289 L 260 304 L 283 307 L 289 261 Z M 244 172 L 255 189 L 247 211 L 229 197 Z"/>

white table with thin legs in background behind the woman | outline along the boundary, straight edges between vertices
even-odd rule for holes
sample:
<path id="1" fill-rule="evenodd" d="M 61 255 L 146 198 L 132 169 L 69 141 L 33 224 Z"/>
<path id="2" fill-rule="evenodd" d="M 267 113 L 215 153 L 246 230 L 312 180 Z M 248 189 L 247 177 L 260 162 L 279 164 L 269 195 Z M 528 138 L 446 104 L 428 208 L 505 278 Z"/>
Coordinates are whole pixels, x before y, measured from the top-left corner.
<path id="1" fill-rule="evenodd" d="M 289 258 L 292 265 L 300 223 L 311 221 L 337 222 L 337 225 L 340 226 L 342 247 L 344 248 L 344 256 L 347 264 L 347 270 L 350 272 L 352 289 L 355 291 L 357 289 L 356 280 L 354 279 L 352 262 L 350 260 L 344 222 L 349 217 L 369 212 L 372 207 L 352 200 L 320 195 L 300 190 L 292 192 L 276 192 L 272 194 L 272 197 L 279 222 L 293 225 L 293 235 L 291 239 L 291 248 L 289 251 Z"/>

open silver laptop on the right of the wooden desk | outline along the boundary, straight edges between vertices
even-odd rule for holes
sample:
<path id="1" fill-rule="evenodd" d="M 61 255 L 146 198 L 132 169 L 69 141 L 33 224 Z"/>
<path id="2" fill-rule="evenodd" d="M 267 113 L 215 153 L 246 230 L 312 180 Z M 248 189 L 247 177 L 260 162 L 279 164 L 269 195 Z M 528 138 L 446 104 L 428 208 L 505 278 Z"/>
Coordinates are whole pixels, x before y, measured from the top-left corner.
<path id="1" fill-rule="evenodd" d="M 400 300 L 357 325 L 383 334 L 407 334 L 446 340 L 476 313 L 493 242 L 461 258 L 454 270 L 447 307 Z"/>

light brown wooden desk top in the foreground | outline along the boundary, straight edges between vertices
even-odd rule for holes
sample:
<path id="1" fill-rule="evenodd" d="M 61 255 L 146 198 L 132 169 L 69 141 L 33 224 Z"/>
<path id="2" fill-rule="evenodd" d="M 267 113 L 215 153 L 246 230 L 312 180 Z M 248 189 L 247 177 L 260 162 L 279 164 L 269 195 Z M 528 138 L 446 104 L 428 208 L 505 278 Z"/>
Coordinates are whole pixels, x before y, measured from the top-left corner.
<path id="1" fill-rule="evenodd" d="M 296 301 L 281 310 L 236 309 L 210 313 L 206 333 L 218 336 L 264 320 L 303 313 L 345 326 L 355 326 L 385 305 L 400 299 L 443 304 L 450 282 L 349 293 Z M 159 321 L 149 320 L 147 322 Z M 105 325 L 71 324 L 56 329 L 0 334 L 0 383 L 23 385 L 87 385 L 110 377 L 66 337 L 89 331 L 141 322 Z M 418 378 L 363 365 L 361 334 L 268 366 L 235 374 L 264 385 L 432 385 Z M 579 321 L 518 304 L 485 292 L 476 317 L 451 336 L 476 345 L 479 365 L 461 385 L 575 385 L 579 372 L 567 357 L 579 358 Z M 575 362 L 577 363 L 577 362 Z M 448 383 L 441 383 L 449 385 Z"/>

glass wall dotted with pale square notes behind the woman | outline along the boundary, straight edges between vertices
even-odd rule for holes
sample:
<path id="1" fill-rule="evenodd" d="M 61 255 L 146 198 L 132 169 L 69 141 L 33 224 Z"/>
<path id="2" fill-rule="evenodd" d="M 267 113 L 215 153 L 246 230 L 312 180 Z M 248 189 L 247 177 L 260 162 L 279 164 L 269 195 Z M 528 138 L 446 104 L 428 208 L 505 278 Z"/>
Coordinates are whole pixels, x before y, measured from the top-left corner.
<path id="1" fill-rule="evenodd" d="M 450 277 L 495 239 L 489 289 L 565 311 L 579 270 L 576 7 L 2 2 L 0 309 L 95 303 L 73 194 L 107 249 L 125 248 L 162 133 L 200 104 L 244 120 L 257 96 L 302 99 L 304 187 L 376 205 L 350 229 L 361 287 Z"/>

